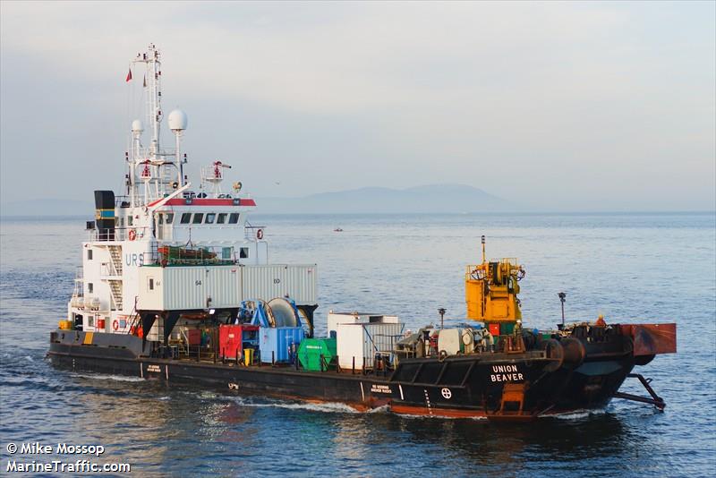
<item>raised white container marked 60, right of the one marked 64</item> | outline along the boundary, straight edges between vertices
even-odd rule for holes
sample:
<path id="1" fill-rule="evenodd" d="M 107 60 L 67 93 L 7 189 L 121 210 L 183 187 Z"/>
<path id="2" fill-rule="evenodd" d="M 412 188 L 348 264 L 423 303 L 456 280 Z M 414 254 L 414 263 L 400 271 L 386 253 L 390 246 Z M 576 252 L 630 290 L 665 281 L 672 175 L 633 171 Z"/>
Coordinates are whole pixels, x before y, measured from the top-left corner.
<path id="1" fill-rule="evenodd" d="M 288 296 L 298 304 L 317 303 L 318 274 L 315 264 L 241 266 L 241 269 L 244 299 L 269 301 Z"/>

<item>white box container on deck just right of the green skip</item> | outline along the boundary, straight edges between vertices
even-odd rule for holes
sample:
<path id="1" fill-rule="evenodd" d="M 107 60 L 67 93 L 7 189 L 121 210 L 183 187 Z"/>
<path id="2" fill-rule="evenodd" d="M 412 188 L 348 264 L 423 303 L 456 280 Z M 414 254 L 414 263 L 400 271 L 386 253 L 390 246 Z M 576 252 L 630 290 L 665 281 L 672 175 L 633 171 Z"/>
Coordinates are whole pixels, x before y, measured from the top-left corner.
<path id="1" fill-rule="evenodd" d="M 338 363 L 342 369 L 356 370 L 363 366 L 373 368 L 376 354 L 392 354 L 396 342 L 403 334 L 401 323 L 337 324 Z"/>

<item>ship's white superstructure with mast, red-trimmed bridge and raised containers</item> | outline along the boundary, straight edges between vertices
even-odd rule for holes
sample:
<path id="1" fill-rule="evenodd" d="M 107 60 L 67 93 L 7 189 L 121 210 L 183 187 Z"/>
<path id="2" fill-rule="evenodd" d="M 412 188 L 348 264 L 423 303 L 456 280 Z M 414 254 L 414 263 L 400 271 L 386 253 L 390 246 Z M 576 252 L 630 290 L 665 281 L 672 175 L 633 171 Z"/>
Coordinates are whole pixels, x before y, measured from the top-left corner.
<path id="1" fill-rule="evenodd" d="M 268 264 L 265 227 L 247 220 L 255 201 L 238 181 L 222 190 L 231 166 L 213 161 L 192 187 L 183 170 L 183 111 L 168 115 L 174 148 L 162 148 L 158 49 L 149 45 L 132 64 L 146 68 L 147 115 L 145 122 L 132 122 L 124 194 L 95 192 L 96 220 L 88 223 L 81 272 L 68 303 L 72 327 L 136 333 L 141 315 L 151 315 L 156 328 L 169 312 L 173 320 L 230 315 L 243 300 L 277 296 L 315 308 L 316 265 Z"/>

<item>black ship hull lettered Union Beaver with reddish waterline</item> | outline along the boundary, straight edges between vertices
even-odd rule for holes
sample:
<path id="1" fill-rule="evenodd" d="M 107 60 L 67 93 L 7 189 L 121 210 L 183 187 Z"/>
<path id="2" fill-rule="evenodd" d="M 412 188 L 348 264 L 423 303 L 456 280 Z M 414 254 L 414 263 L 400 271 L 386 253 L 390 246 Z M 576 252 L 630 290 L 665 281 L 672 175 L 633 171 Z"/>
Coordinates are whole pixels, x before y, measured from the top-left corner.
<path id="1" fill-rule="evenodd" d="M 121 337 L 121 338 L 120 338 Z M 48 357 L 73 371 L 187 382 L 233 393 L 339 402 L 359 410 L 388 405 L 398 414 L 529 419 L 609 404 L 634 367 L 632 354 L 590 354 L 582 363 L 555 363 L 542 352 L 406 359 L 395 372 L 297 371 L 156 358 L 141 339 L 82 332 L 53 334 Z"/>

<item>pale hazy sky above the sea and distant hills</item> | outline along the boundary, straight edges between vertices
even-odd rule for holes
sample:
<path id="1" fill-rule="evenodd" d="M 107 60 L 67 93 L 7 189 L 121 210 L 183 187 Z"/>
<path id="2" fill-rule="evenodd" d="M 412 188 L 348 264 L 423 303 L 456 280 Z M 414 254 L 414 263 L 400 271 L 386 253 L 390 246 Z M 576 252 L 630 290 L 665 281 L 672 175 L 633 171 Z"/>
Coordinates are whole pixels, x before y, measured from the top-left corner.
<path id="1" fill-rule="evenodd" d="M 716 209 L 716 2 L 3 1 L 0 201 L 121 190 L 149 43 L 190 175 L 220 159 L 254 197 Z"/>

